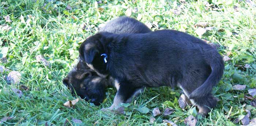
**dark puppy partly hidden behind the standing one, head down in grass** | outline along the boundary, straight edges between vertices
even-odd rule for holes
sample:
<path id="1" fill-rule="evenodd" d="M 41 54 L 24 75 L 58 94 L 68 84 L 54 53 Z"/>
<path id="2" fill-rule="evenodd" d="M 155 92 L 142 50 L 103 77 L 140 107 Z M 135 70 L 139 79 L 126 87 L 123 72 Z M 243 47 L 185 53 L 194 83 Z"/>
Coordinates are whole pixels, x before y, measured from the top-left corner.
<path id="1" fill-rule="evenodd" d="M 118 17 L 110 20 L 104 27 L 99 29 L 101 32 L 111 32 L 115 34 L 121 33 L 147 33 L 151 30 L 140 21 L 131 17 Z M 98 73 L 99 74 L 99 73 Z M 77 94 L 86 101 L 91 101 L 95 105 L 105 98 L 105 88 L 112 86 L 111 78 L 105 79 L 106 76 L 98 76 L 96 72 L 91 70 L 86 63 L 80 61 L 67 77 L 63 79 L 63 84 L 71 88 L 72 94 Z"/>

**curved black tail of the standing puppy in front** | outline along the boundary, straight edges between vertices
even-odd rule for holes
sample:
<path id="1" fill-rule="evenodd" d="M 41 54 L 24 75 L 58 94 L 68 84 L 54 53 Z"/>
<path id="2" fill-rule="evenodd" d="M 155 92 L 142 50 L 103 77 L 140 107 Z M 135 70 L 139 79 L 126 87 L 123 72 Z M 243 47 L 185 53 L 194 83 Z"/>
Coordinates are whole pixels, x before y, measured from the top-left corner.
<path id="1" fill-rule="evenodd" d="M 211 48 L 203 56 L 212 71 L 206 81 L 189 95 L 190 99 L 204 97 L 211 93 L 212 87 L 219 83 L 224 72 L 224 62 L 217 50 Z"/>

